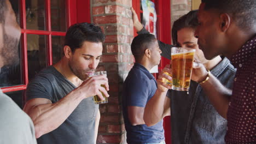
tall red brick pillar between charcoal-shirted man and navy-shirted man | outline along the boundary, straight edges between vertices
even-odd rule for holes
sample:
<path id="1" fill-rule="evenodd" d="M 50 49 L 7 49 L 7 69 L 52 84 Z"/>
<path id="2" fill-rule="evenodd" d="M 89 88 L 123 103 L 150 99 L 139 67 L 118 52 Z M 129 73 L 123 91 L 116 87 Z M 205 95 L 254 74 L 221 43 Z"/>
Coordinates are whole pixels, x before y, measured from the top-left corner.
<path id="1" fill-rule="evenodd" d="M 121 91 L 133 65 L 131 5 L 131 0 L 91 0 L 91 21 L 106 34 L 98 69 L 107 71 L 110 87 L 108 104 L 100 105 L 97 143 L 126 143 Z"/>

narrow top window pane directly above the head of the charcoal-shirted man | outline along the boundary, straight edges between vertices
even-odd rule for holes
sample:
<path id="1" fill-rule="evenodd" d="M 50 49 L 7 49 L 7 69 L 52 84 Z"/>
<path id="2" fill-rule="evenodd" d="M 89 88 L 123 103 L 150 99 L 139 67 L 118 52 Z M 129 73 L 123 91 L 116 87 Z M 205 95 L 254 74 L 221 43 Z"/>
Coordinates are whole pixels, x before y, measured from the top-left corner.
<path id="1" fill-rule="evenodd" d="M 51 31 L 66 32 L 66 0 L 51 1 Z"/>

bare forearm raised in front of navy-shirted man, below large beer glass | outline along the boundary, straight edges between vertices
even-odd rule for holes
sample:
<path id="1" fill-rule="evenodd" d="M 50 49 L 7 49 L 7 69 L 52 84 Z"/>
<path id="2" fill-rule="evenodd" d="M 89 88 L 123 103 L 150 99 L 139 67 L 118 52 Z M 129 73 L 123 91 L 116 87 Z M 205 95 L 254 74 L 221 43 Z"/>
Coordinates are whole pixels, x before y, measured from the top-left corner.
<path id="1" fill-rule="evenodd" d="M 165 110 L 166 93 L 167 91 L 161 92 L 158 89 L 155 95 L 148 101 L 143 116 L 146 125 L 152 126 L 162 119 Z"/>

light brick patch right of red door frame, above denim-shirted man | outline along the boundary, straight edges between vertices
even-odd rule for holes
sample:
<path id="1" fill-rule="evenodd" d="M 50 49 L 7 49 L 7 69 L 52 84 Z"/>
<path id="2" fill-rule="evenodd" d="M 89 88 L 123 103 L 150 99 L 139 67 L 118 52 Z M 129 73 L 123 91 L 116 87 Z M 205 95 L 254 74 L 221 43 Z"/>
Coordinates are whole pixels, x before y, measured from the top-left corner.
<path id="1" fill-rule="evenodd" d="M 191 10 L 192 0 L 171 0 L 171 23 Z"/>

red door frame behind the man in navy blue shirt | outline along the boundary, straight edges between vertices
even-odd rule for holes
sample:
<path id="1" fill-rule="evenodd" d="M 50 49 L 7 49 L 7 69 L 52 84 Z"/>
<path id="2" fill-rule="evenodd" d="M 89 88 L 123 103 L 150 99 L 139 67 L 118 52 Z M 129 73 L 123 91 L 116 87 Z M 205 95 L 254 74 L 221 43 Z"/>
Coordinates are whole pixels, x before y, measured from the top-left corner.
<path id="1" fill-rule="evenodd" d="M 158 40 L 166 44 L 171 44 L 171 2 L 170 0 L 152 0 L 155 3 L 157 20 L 157 32 Z M 139 20 L 141 21 L 141 2 L 139 0 L 132 0 L 132 7 L 135 9 Z M 167 17 L 167 18 L 166 18 Z M 165 18 L 165 19 L 164 19 Z M 134 36 L 137 35 L 136 29 Z M 170 60 L 162 57 L 161 63 L 159 64 L 159 71 L 161 71 L 166 64 L 169 64 Z M 158 74 L 154 74 L 156 77 Z M 171 144 L 171 118 L 170 116 L 164 118 L 164 129 L 165 129 L 165 142 Z"/>

